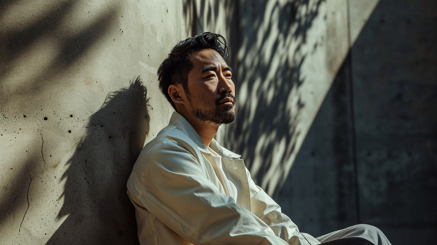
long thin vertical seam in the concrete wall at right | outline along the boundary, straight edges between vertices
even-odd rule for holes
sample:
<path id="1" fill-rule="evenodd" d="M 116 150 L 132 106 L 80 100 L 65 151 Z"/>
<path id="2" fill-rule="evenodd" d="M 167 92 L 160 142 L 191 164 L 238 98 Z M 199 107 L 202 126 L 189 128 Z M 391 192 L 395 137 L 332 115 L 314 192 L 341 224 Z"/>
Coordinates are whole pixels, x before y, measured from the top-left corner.
<path id="1" fill-rule="evenodd" d="M 354 83 L 352 76 L 352 40 L 350 37 L 350 6 L 349 0 L 346 1 L 347 6 L 347 41 L 349 45 L 349 52 L 347 55 L 347 63 L 349 63 L 349 98 L 350 98 L 350 122 L 352 131 L 352 161 L 354 164 L 354 189 L 355 189 L 355 208 L 357 212 L 357 224 L 361 224 L 360 217 L 360 195 L 358 193 L 358 164 L 357 164 L 357 139 L 355 132 L 355 110 L 354 110 Z"/>

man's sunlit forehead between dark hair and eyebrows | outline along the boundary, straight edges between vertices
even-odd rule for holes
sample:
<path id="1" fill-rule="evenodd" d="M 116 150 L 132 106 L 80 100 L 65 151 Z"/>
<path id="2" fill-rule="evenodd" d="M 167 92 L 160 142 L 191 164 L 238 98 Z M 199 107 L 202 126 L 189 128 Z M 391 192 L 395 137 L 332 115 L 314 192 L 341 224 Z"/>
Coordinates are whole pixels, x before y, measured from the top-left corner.
<path id="1" fill-rule="evenodd" d="M 194 66 L 193 70 L 201 70 L 205 66 L 228 66 L 223 57 L 214 49 L 192 52 L 190 59 Z"/>

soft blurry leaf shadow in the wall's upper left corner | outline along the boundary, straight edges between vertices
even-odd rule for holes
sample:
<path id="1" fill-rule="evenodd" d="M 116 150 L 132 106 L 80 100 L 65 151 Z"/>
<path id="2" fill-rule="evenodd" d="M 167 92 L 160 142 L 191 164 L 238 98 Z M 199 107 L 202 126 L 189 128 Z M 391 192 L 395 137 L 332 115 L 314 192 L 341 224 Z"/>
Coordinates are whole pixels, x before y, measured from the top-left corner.
<path id="1" fill-rule="evenodd" d="M 10 95 L 32 99 L 44 94 L 47 86 L 61 89 L 60 78 L 68 81 L 68 74 L 86 64 L 95 47 L 114 35 L 122 9 L 120 4 L 107 3 L 96 14 L 81 17 L 79 0 L 48 2 L 44 10 L 38 2 L 24 2 L 18 8 L 14 0 L 0 1 L 0 16 L 8 20 L 0 18 L 0 84 L 8 88 L 0 90 L 4 105 L 16 103 Z M 26 14 L 21 22 L 21 17 L 8 18 L 30 9 L 38 11 Z"/>

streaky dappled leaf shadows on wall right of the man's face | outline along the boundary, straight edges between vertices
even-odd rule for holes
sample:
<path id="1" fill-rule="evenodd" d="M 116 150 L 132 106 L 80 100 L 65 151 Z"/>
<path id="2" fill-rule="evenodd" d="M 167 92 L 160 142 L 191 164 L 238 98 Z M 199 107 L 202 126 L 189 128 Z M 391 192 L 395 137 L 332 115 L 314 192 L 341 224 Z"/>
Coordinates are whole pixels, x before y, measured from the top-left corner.
<path id="1" fill-rule="evenodd" d="M 225 128 L 224 146 L 242 154 L 252 178 L 269 195 L 281 190 L 297 154 L 298 125 L 311 98 L 304 61 L 309 30 L 325 0 L 264 0 L 240 4 L 236 122 Z M 242 14 L 241 14 L 242 13 Z M 252 14 L 264 13 L 264 14 Z M 253 23 L 253 24 L 252 24 Z M 306 45 L 306 46 L 305 46 Z"/>

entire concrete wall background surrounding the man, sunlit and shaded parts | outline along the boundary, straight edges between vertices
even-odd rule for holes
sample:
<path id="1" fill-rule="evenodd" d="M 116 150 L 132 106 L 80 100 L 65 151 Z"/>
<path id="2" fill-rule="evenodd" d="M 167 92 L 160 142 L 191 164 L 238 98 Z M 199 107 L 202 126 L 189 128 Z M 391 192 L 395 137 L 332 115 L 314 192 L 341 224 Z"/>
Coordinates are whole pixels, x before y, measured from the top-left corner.
<path id="1" fill-rule="evenodd" d="M 204 31 L 225 35 L 235 70 L 238 119 L 217 139 L 301 231 L 368 223 L 393 244 L 429 243 L 435 7 L 3 1 L 0 243 L 138 243 L 125 182 L 172 112 L 156 69 Z"/>

